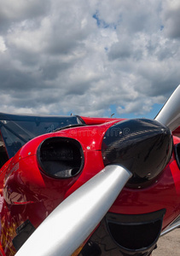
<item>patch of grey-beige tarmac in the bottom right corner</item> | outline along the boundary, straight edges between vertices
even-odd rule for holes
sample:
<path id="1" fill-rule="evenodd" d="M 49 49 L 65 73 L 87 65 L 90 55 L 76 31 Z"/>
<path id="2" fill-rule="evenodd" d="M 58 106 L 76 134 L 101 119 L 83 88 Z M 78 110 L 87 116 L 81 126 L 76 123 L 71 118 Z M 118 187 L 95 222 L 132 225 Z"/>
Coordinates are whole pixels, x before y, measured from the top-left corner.
<path id="1" fill-rule="evenodd" d="M 180 256 L 180 228 L 161 236 L 152 256 Z"/>

